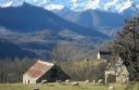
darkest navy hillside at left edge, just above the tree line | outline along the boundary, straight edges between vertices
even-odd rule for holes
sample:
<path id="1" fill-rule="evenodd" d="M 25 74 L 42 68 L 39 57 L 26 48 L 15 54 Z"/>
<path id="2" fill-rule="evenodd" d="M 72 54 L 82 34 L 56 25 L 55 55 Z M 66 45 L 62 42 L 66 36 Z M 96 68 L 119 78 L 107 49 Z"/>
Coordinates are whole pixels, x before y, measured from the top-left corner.
<path id="1" fill-rule="evenodd" d="M 4 57 L 35 57 L 36 54 L 27 50 L 21 49 L 17 44 L 14 44 L 8 40 L 0 39 L 0 59 Z"/>

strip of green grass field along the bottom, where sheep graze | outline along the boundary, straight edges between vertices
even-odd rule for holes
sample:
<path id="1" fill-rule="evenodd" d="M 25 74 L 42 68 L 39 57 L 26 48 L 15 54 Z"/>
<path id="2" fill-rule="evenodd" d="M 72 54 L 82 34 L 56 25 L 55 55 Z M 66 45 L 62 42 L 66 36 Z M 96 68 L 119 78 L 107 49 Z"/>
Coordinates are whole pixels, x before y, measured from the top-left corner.
<path id="1" fill-rule="evenodd" d="M 127 90 L 125 85 L 109 85 L 115 87 L 115 90 Z M 39 88 L 39 90 L 109 90 L 109 86 L 93 86 L 92 83 L 83 82 L 79 86 L 60 85 L 60 83 L 45 83 L 45 85 L 22 85 L 22 83 L 0 83 L 0 90 L 31 90 Z M 135 86 L 130 90 L 139 90 L 139 86 Z"/>

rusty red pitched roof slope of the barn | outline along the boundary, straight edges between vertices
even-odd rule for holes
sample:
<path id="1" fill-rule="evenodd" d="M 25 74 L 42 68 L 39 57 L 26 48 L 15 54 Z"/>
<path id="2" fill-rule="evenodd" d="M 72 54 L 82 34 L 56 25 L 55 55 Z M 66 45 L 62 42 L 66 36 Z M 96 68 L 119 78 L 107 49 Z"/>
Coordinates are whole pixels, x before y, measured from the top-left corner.
<path id="1" fill-rule="evenodd" d="M 30 78 L 38 79 L 46 74 L 54 64 L 49 62 L 37 61 L 25 74 Z"/>

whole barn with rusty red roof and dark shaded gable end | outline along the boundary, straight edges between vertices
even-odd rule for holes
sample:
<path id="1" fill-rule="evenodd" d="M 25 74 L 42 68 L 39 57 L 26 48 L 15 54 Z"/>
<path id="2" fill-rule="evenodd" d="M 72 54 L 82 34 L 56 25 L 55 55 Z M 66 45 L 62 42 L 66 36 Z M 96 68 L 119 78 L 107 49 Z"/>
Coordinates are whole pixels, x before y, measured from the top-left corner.
<path id="1" fill-rule="evenodd" d="M 23 83 L 39 83 L 42 80 L 55 81 L 70 79 L 59 66 L 53 63 L 37 61 L 24 75 Z"/>

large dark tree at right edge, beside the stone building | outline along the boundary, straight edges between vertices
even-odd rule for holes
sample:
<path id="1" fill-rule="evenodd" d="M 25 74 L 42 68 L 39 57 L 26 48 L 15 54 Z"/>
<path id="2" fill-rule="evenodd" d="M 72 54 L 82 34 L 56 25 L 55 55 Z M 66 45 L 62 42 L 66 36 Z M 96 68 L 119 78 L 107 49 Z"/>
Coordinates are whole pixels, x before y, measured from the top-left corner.
<path id="1" fill-rule="evenodd" d="M 127 66 L 132 80 L 139 80 L 139 17 L 125 23 L 114 41 L 113 52 Z"/>

